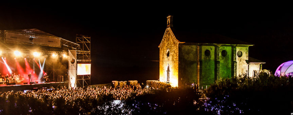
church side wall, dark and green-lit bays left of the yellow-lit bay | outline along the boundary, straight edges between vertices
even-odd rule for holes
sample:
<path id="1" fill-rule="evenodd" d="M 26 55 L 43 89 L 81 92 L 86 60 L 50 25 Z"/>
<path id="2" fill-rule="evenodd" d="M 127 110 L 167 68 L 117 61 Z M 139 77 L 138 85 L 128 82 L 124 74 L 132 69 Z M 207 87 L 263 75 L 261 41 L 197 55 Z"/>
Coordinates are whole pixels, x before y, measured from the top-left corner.
<path id="1" fill-rule="evenodd" d="M 197 53 L 197 50 L 199 53 Z M 205 51 L 210 54 L 206 55 Z M 227 52 L 226 56 L 222 51 Z M 180 43 L 178 51 L 178 84 L 197 83 L 197 58 L 199 61 L 199 85 L 209 86 L 217 79 L 231 78 L 236 72 L 236 47 L 214 44 Z M 199 56 L 197 56 L 197 54 Z"/>

